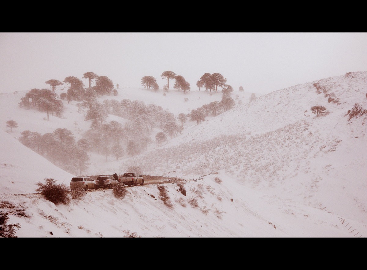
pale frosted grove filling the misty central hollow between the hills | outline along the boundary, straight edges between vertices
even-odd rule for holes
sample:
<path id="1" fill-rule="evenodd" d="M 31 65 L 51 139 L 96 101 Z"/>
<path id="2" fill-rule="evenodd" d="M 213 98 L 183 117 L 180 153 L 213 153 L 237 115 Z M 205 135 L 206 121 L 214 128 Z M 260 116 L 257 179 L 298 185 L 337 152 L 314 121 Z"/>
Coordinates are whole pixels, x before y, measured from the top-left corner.
<path id="1" fill-rule="evenodd" d="M 91 129 L 83 138 L 90 142 L 92 151 L 105 154 L 106 159 L 109 154 L 117 160 L 125 153 L 134 156 L 148 150 L 148 144 L 153 142 L 151 134 L 154 128 L 162 129 L 166 138 L 167 135 L 173 138 L 182 132 L 182 126 L 174 114 L 155 104 L 145 105 L 142 101 L 130 99 L 120 102 L 106 99 L 103 103 L 85 101 L 80 106 L 88 108 L 85 120 L 92 121 Z M 129 121 L 124 125 L 117 121 L 103 124 L 107 114 Z"/>

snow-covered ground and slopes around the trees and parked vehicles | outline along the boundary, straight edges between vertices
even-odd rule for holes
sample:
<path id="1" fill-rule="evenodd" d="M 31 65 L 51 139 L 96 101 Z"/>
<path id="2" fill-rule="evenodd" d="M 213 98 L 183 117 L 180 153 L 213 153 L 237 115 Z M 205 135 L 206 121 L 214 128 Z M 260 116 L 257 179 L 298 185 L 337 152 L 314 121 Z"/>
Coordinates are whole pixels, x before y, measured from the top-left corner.
<path id="1" fill-rule="evenodd" d="M 317 93 L 315 83 L 323 91 Z M 89 175 L 138 165 L 141 174 L 185 179 L 179 184 L 186 196 L 177 183 L 162 184 L 170 207 L 160 199 L 159 184 L 130 187 L 123 199 L 112 190 L 91 190 L 69 205 L 30 194 L 45 178 L 68 185 L 73 175 L 23 146 L 20 133 L 68 128 L 80 139 L 90 122 L 75 101 L 63 101 L 63 117 L 45 121 L 45 113 L 18 106 L 26 92 L 0 94 L 0 211 L 11 211 L 9 223 L 21 225 L 18 237 L 367 236 L 367 115 L 346 116 L 356 103 L 367 109 L 367 72 L 295 85 L 251 102 L 251 93 L 235 91 L 232 98 L 242 105 L 200 124 L 184 123 L 182 134 L 162 147 L 121 160 L 90 154 Z M 220 101 L 221 92 L 171 90 L 164 96 L 120 88 L 117 96 L 99 99 L 141 100 L 177 116 Z M 316 117 L 310 111 L 316 105 L 327 113 Z M 19 127 L 10 132 L 8 120 Z M 112 120 L 126 121 L 106 121 Z"/>

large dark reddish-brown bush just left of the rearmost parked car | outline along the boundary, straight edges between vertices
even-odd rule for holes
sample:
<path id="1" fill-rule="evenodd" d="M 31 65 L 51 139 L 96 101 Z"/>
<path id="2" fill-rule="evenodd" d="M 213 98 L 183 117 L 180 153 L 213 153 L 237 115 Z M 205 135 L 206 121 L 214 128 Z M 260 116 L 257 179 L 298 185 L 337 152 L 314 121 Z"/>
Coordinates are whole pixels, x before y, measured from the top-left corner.
<path id="1" fill-rule="evenodd" d="M 69 187 L 63 184 L 55 184 L 56 180 L 54 180 L 53 178 L 46 178 L 45 180 L 46 184 L 43 184 L 41 182 L 36 183 L 36 185 L 38 186 L 36 191 L 41 193 L 41 195 L 46 200 L 51 201 L 54 204 L 69 204 Z"/>

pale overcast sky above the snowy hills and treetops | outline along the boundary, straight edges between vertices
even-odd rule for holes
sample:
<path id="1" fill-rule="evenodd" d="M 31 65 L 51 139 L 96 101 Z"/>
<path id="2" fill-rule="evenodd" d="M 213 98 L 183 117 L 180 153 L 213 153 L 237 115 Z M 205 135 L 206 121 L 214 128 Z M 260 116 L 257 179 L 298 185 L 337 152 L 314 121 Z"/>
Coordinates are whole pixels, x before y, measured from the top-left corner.
<path id="1" fill-rule="evenodd" d="M 235 90 L 268 93 L 366 71 L 367 33 L 0 33 L 0 93 L 86 72 L 120 88 L 141 88 L 141 78 L 153 76 L 163 88 L 166 70 L 192 90 L 208 72 Z"/>

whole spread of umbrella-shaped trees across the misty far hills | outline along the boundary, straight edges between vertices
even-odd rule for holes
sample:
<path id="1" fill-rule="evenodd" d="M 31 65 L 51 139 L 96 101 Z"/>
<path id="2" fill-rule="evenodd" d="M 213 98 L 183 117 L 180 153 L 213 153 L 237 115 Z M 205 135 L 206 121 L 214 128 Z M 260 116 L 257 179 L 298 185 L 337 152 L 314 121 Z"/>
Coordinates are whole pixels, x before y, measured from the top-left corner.
<path id="1" fill-rule="evenodd" d="M 177 76 L 174 72 L 166 71 L 162 73 L 162 78 L 167 79 L 165 89 L 169 89 L 169 80 L 175 79 L 174 88 L 178 91 L 187 91 L 190 89 L 189 83 L 182 76 Z M 65 169 L 66 171 L 76 173 L 83 171 L 88 167 L 88 152 L 97 152 L 116 157 L 116 160 L 125 154 L 134 156 L 144 150 L 148 150 L 148 145 L 153 143 L 152 131 L 159 128 L 162 131 L 155 135 L 155 142 L 161 146 L 162 142 L 167 140 L 167 136 L 172 139 L 174 136 L 181 134 L 183 123 L 196 121 L 199 124 L 205 121 L 205 117 L 211 114 L 217 116 L 219 113 L 225 112 L 235 106 L 235 101 L 230 97 L 233 88 L 225 84 L 226 79 L 219 73 L 205 73 L 198 81 L 200 87 L 206 90 L 222 89 L 222 100 L 214 101 L 200 108 L 191 110 L 190 113 L 180 113 L 177 117 L 168 110 L 164 110 L 161 106 L 155 104 L 145 105 L 142 101 L 131 101 L 122 99 L 120 102 L 116 99 L 104 100 L 102 103 L 97 101 L 99 95 L 117 95 L 112 81 L 107 76 L 98 76 L 93 72 L 86 72 L 84 79 L 88 79 L 88 87 L 84 88 L 84 83 L 74 77 L 68 76 L 63 83 L 68 86 L 68 90 L 60 94 L 58 99 L 55 90 L 63 85 L 59 80 L 48 80 L 45 83 L 50 84 L 52 90 L 33 88 L 21 98 L 20 107 L 29 109 L 38 109 L 40 112 L 61 117 L 63 111 L 62 100 L 77 101 L 78 111 L 85 112 L 84 120 L 90 121 L 90 129 L 84 134 L 83 138 L 75 142 L 72 131 L 68 129 L 56 129 L 53 133 L 40 134 L 29 130 L 23 131 L 19 141 L 24 145 L 40 153 L 52 163 Z M 150 76 L 145 76 L 144 87 L 153 89 L 157 88 L 155 79 L 152 81 Z M 95 85 L 92 83 L 95 80 Z M 200 82 L 200 83 L 199 83 Z M 116 85 L 118 88 L 119 85 Z M 200 90 L 199 87 L 199 90 Z M 186 98 L 185 101 L 188 99 Z M 85 109 L 85 110 L 83 110 Z M 105 123 L 108 114 L 128 119 L 124 125 L 117 121 Z M 46 119 L 46 118 L 45 118 Z M 181 125 L 179 125 L 181 123 Z M 9 127 L 17 127 L 15 124 L 7 123 Z M 77 126 L 77 122 L 74 123 Z M 154 135 L 153 135 L 154 137 Z"/>

